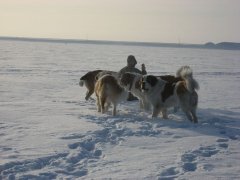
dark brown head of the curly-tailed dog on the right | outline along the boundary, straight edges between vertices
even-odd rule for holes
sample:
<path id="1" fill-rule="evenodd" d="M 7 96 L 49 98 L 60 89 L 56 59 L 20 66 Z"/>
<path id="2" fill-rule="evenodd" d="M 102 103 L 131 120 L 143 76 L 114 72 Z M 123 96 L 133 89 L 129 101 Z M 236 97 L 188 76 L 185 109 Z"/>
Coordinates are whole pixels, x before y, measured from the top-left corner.
<path id="1" fill-rule="evenodd" d="M 151 90 L 154 86 L 156 86 L 157 83 L 158 83 L 158 79 L 156 76 L 145 75 L 142 77 L 142 79 L 140 81 L 141 90 L 143 92 L 147 92 L 147 91 Z"/>

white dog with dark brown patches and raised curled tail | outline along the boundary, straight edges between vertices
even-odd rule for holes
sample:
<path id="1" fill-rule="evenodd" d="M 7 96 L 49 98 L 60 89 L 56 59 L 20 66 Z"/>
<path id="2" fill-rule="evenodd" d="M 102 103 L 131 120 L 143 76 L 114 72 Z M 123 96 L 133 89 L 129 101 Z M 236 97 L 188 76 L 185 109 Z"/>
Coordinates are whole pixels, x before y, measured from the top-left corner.
<path id="1" fill-rule="evenodd" d="M 156 76 L 145 75 L 140 82 L 141 89 L 153 106 L 153 118 L 157 117 L 160 111 L 163 118 L 167 118 L 167 108 L 179 105 L 187 118 L 197 123 L 198 83 L 193 79 L 189 66 L 182 67 L 178 72 L 183 80 L 177 83 L 169 83 Z"/>

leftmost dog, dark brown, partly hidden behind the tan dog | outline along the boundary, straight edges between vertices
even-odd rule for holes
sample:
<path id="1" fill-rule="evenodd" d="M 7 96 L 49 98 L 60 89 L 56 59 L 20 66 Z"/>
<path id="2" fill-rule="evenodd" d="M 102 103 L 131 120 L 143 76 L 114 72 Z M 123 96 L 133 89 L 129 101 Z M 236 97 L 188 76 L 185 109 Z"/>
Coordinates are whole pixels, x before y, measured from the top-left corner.
<path id="1" fill-rule="evenodd" d="M 94 87 L 96 81 L 105 74 L 117 74 L 117 72 L 106 71 L 106 70 L 95 70 L 89 71 L 80 78 L 79 86 L 84 86 L 87 88 L 85 99 L 88 100 L 94 93 Z"/>

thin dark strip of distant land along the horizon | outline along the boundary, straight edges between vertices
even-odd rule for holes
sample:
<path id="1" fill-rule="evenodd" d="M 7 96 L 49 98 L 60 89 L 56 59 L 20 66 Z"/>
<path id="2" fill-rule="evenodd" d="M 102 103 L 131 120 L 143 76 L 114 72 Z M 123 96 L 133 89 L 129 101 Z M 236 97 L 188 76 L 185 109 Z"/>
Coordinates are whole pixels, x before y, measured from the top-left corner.
<path id="1" fill-rule="evenodd" d="M 157 43 L 157 42 L 131 42 L 131 41 L 104 41 L 104 40 L 81 40 L 81 39 L 51 39 L 51 38 L 28 38 L 28 37 L 1 37 L 0 40 L 28 41 L 28 42 L 53 42 L 53 43 L 81 43 L 99 45 L 127 45 L 127 46 L 152 46 L 152 47 L 172 47 L 172 48 L 201 48 L 201 49 L 225 49 L 240 50 L 240 43 L 220 42 L 214 44 L 181 44 L 181 43 Z"/>

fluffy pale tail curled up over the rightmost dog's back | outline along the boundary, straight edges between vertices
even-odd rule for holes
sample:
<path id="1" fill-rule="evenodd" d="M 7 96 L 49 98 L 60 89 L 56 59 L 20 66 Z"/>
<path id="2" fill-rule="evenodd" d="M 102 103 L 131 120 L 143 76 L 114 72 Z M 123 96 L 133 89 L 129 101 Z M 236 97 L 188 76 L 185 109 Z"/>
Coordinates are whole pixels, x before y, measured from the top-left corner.
<path id="1" fill-rule="evenodd" d="M 176 76 L 184 79 L 188 91 L 193 92 L 194 90 L 199 90 L 199 84 L 193 78 L 193 71 L 189 66 L 182 66 L 180 69 L 178 69 Z"/>

